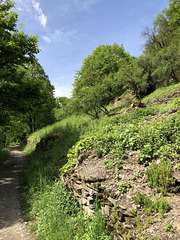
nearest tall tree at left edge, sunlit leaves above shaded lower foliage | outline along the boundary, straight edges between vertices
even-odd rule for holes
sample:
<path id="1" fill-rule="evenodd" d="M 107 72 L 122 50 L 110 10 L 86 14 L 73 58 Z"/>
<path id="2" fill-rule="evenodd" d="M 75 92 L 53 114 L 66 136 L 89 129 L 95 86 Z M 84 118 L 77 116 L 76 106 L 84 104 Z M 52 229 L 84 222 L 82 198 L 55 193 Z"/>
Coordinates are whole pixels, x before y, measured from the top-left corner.
<path id="1" fill-rule="evenodd" d="M 35 54 L 39 52 L 37 37 L 17 28 L 18 15 L 11 11 L 13 7 L 13 1 L 0 0 L 0 111 L 5 111 L 10 102 L 11 105 L 18 102 L 18 94 L 14 94 L 13 99 L 10 94 L 13 85 L 18 86 L 17 68 L 35 61 Z M 9 92 L 3 94 L 8 87 Z"/>

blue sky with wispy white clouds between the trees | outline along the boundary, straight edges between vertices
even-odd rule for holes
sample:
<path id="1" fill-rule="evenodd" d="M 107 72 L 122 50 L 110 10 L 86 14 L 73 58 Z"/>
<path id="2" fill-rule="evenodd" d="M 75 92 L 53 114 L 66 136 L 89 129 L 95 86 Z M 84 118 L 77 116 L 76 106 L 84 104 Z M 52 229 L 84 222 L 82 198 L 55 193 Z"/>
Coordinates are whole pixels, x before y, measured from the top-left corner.
<path id="1" fill-rule="evenodd" d="M 151 27 L 168 0 L 15 0 L 25 33 L 38 35 L 40 64 L 56 97 L 70 97 L 84 58 L 102 44 L 123 44 L 139 56 Z"/>

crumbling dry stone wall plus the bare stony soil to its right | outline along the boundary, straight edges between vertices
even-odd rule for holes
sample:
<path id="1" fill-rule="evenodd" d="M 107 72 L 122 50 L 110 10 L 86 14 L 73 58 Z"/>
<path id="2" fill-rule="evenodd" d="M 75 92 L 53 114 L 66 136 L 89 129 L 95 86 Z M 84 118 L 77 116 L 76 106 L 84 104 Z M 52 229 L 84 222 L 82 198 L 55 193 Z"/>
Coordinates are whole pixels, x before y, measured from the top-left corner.
<path id="1" fill-rule="evenodd" d="M 137 233 L 135 213 L 142 210 L 140 206 L 135 205 L 134 195 L 139 191 L 152 199 L 161 197 L 160 193 L 153 192 L 148 186 L 145 170 L 144 165 L 138 164 L 136 152 L 133 151 L 128 153 L 128 159 L 125 160 L 121 169 L 107 169 L 103 164 L 103 159 L 99 159 L 92 152 L 82 151 L 76 167 L 62 176 L 62 180 L 89 215 L 95 209 L 96 196 L 98 196 L 107 228 L 111 231 L 114 240 L 139 239 L 136 237 L 137 235 L 132 238 L 127 237 L 132 232 Z M 177 175 L 177 171 L 175 173 Z M 128 185 L 120 189 L 119 186 L 122 182 L 128 183 Z M 158 237 L 162 240 L 180 239 L 178 225 L 180 222 L 180 195 L 170 194 L 168 201 L 172 206 L 171 211 L 163 219 L 156 216 L 154 224 L 147 222 L 145 214 L 141 215 L 142 224 L 146 225 L 144 239 L 158 239 Z M 176 226 L 175 232 L 164 230 L 167 222 Z"/>

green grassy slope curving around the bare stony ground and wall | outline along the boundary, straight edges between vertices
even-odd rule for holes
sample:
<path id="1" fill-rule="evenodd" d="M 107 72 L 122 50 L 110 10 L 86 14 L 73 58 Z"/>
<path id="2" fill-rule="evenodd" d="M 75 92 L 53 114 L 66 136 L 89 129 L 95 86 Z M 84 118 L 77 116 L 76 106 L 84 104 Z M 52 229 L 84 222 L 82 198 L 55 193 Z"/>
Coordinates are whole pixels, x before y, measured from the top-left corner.
<path id="1" fill-rule="evenodd" d="M 143 101 L 157 102 L 165 96 L 172 96 L 179 89 L 180 84 L 162 88 Z M 180 112 L 177 110 L 180 99 L 151 105 L 94 121 L 87 117 L 71 117 L 28 138 L 25 152 L 30 165 L 23 176 L 22 202 L 27 219 L 36 220 L 33 228 L 39 239 L 110 239 L 105 231 L 101 231 L 104 228 L 101 217 L 95 216 L 90 220 L 82 213 L 77 214 L 79 210 L 74 199 L 57 181 L 62 164 L 68 161 L 61 169 L 65 173 L 76 164 L 78 154 L 84 148 L 94 147 L 101 157 L 111 154 L 111 161 L 117 166 L 121 164 L 121 159 L 126 158 L 128 149 L 139 151 L 141 163 L 157 157 L 166 159 L 167 156 L 168 161 L 176 161 L 180 152 Z M 170 114 L 173 110 L 175 113 Z M 35 151 L 38 144 L 41 150 Z M 70 238 L 67 237 L 68 232 L 72 233 Z"/>

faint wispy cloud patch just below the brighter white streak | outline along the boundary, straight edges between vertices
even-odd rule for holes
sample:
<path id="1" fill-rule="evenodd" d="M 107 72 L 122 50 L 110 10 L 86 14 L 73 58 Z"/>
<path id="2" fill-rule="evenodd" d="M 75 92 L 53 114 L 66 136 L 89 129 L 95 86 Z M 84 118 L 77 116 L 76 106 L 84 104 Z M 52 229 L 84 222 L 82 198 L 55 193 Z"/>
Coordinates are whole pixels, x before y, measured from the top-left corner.
<path id="1" fill-rule="evenodd" d="M 55 42 L 65 42 L 69 43 L 71 39 L 77 39 L 77 34 L 75 30 L 59 30 L 56 29 L 54 33 L 47 33 L 42 36 L 42 39 L 46 43 L 55 43 Z"/>

